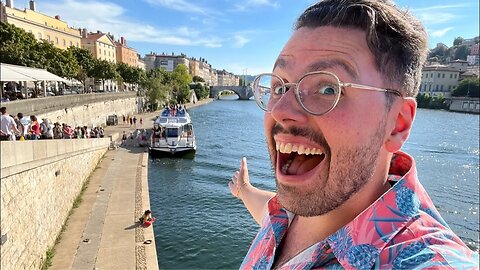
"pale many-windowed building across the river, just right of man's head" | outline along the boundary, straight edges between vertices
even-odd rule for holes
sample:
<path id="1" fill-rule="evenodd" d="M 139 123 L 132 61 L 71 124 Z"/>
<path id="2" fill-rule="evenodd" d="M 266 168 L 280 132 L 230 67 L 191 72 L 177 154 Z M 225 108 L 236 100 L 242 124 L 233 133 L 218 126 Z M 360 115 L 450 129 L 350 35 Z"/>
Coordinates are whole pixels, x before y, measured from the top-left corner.
<path id="1" fill-rule="evenodd" d="M 453 66 L 432 65 L 422 69 L 420 93 L 428 93 L 430 96 L 443 95 L 450 97 L 451 92 L 458 85 L 460 71 Z"/>

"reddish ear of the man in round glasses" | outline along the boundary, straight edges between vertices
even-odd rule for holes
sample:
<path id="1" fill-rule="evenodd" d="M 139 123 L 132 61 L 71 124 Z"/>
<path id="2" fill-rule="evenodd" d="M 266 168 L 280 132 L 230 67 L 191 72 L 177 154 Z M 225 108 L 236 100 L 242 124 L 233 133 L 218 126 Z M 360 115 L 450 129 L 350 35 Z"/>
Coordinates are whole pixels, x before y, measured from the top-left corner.
<path id="1" fill-rule="evenodd" d="M 417 111 L 417 102 L 415 101 L 415 98 L 404 98 L 400 106 L 397 115 L 392 116 L 395 120 L 395 126 L 385 142 L 385 148 L 391 153 L 400 150 L 402 145 L 408 139 L 415 118 L 415 113 Z"/>

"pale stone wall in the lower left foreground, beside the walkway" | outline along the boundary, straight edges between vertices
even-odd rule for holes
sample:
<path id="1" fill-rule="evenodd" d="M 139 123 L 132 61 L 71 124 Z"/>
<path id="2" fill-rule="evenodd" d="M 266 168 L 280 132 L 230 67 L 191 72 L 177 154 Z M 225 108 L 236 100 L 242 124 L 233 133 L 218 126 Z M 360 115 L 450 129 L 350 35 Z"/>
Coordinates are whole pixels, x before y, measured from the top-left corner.
<path id="1" fill-rule="evenodd" d="M 1 269 L 39 269 L 110 138 L 2 141 Z"/>

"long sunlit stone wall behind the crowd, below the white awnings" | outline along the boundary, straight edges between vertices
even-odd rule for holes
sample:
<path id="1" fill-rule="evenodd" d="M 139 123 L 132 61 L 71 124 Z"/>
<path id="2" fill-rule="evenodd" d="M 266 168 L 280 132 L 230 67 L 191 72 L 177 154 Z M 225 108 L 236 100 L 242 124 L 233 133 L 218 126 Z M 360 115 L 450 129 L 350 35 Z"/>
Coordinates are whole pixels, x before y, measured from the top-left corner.
<path id="1" fill-rule="evenodd" d="M 68 95 L 35 98 L 2 103 L 10 115 L 21 112 L 24 116 L 36 115 L 51 122 L 75 126 L 102 126 L 108 115 L 132 115 L 143 108 L 143 98 L 136 92 Z M 121 121 L 121 119 L 120 119 Z"/>

